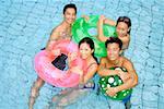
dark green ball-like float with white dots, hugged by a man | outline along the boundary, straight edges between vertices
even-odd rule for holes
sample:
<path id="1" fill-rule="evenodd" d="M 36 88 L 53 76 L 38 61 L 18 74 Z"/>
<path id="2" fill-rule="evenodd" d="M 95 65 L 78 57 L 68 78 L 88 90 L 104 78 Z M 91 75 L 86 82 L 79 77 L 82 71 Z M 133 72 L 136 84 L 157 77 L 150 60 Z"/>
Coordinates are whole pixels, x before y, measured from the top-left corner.
<path id="1" fill-rule="evenodd" d="M 126 69 L 118 68 L 118 66 L 110 68 L 110 70 L 121 70 L 125 73 L 127 72 Z M 118 75 L 102 76 L 99 78 L 98 84 L 99 84 L 99 88 L 101 88 L 102 94 L 109 97 L 110 99 L 114 99 L 114 100 L 124 100 L 125 98 L 129 97 L 132 93 L 132 89 L 126 89 L 126 90 L 118 92 L 113 97 L 110 97 L 106 94 L 106 90 L 107 90 L 106 87 L 116 87 L 116 86 L 124 84 Z"/>

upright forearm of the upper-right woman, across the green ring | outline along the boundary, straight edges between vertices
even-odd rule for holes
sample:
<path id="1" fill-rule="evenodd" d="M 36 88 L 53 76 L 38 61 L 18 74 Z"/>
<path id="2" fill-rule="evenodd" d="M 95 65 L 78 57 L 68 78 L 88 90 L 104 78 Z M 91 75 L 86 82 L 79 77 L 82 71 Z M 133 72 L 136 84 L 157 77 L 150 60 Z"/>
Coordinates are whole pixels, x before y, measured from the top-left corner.
<path id="1" fill-rule="evenodd" d="M 98 38 L 101 41 L 103 41 L 103 43 L 108 39 L 108 37 L 105 37 L 105 36 L 104 36 L 104 32 L 103 32 L 104 20 L 105 20 L 105 16 L 104 16 L 104 15 L 101 15 L 101 16 L 99 16 L 99 20 L 98 20 L 98 23 L 97 23 L 97 33 L 98 33 L 97 38 Z"/>

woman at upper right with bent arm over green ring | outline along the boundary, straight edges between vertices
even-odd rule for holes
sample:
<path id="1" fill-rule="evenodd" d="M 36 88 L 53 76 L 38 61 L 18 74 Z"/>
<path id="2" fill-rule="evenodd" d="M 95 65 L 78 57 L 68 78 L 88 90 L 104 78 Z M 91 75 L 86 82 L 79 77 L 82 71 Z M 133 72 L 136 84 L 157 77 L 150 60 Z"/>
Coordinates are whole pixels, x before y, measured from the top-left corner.
<path id="1" fill-rule="evenodd" d="M 131 21 L 127 16 L 119 16 L 117 23 L 114 21 L 106 19 L 104 15 L 101 15 L 98 21 L 98 39 L 101 41 L 106 41 L 108 37 L 105 37 L 103 34 L 103 25 L 108 24 L 112 26 L 116 26 L 116 34 L 118 38 L 122 41 L 122 50 L 127 49 L 130 43 L 130 29 L 131 29 Z"/>

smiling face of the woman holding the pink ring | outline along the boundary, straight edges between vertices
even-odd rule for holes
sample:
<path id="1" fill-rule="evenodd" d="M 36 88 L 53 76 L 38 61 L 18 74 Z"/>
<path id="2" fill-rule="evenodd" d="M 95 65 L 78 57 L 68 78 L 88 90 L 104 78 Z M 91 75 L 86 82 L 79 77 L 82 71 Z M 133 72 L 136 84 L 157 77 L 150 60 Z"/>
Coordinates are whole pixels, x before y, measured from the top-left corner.
<path id="1" fill-rule="evenodd" d="M 93 51 L 94 50 L 92 50 L 86 43 L 80 45 L 80 56 L 82 59 L 87 59 L 89 57 L 92 57 Z"/>

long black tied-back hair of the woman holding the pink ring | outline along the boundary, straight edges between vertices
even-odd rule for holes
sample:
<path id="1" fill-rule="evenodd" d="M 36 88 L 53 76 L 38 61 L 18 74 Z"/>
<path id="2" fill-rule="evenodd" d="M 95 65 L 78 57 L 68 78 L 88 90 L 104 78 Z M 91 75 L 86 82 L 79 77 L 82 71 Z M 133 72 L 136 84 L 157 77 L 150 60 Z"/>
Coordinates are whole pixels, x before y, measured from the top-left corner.
<path id="1" fill-rule="evenodd" d="M 94 41 L 90 37 L 84 37 L 83 39 L 81 39 L 79 43 L 79 48 L 80 48 L 81 44 L 83 44 L 83 43 L 86 43 L 92 50 L 95 50 Z M 96 60 L 96 62 L 98 63 L 97 58 L 94 56 L 94 52 L 92 53 L 92 56 Z"/>

